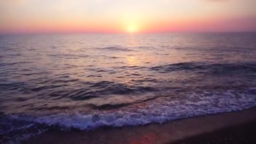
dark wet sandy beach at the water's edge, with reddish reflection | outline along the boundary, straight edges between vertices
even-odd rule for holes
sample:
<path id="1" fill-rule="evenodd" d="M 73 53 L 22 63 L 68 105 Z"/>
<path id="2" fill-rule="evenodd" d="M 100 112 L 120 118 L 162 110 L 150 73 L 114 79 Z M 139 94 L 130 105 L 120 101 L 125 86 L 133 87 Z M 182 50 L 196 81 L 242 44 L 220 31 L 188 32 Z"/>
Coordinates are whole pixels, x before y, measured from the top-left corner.
<path id="1" fill-rule="evenodd" d="M 256 107 L 164 124 L 93 131 L 50 130 L 24 144 L 256 144 Z"/>

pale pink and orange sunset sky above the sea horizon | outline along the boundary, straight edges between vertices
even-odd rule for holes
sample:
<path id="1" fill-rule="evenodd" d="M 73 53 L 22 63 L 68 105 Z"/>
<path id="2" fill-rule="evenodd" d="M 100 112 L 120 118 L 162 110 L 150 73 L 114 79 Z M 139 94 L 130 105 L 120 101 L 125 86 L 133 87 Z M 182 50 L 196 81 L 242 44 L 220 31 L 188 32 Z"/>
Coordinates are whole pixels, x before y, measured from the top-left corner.
<path id="1" fill-rule="evenodd" d="M 256 0 L 0 0 L 0 33 L 256 31 Z"/>

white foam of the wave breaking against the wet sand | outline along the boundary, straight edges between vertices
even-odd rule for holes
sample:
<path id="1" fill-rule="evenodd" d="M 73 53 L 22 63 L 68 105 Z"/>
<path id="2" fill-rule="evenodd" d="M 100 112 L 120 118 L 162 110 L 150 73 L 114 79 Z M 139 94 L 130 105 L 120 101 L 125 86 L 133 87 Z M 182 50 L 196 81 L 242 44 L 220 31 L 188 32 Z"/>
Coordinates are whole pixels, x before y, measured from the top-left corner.
<path id="1" fill-rule="evenodd" d="M 208 92 L 205 92 L 208 94 Z M 148 123 L 163 123 L 186 117 L 238 111 L 256 106 L 256 96 L 248 93 L 226 91 L 205 95 L 194 93 L 190 99 L 163 101 L 153 103 L 147 109 L 134 111 L 117 111 L 112 113 L 58 114 L 37 117 L 33 121 L 47 125 L 59 125 L 66 128 L 89 130 L 100 126 L 120 127 L 124 125 L 145 125 Z M 193 98 L 197 101 L 192 100 Z"/>

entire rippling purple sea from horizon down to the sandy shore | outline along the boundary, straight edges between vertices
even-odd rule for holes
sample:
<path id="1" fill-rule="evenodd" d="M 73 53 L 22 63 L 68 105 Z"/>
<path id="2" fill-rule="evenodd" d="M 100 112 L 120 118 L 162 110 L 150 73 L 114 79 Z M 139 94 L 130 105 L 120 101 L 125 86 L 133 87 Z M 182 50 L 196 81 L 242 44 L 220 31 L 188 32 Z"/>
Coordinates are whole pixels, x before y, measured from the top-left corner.
<path id="1" fill-rule="evenodd" d="M 0 142 L 256 106 L 256 33 L 0 35 Z"/>

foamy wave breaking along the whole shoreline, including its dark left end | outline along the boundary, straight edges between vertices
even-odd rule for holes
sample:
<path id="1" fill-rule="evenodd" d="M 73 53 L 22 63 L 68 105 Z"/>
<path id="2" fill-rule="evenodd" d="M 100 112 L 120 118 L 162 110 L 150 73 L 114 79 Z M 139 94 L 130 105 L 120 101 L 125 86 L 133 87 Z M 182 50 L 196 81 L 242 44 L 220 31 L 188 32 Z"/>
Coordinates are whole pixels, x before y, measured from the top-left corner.
<path id="1" fill-rule="evenodd" d="M 166 100 L 166 98 L 170 98 Z M 101 126 L 134 126 L 149 123 L 164 123 L 187 117 L 221 112 L 239 111 L 256 106 L 256 88 L 247 91 L 222 91 L 187 94 L 186 99 L 165 97 L 147 107 L 139 106 L 98 111 L 94 113 L 72 112 L 53 115 L 5 115 L 2 114 L 1 136 L 19 133 L 41 132 L 48 128 L 91 130 Z M 148 102 L 148 101 L 146 101 Z M 35 129 L 35 130 L 31 130 Z M 18 134 L 19 134 L 18 133 Z M 22 134 L 23 135 L 23 134 Z"/>

